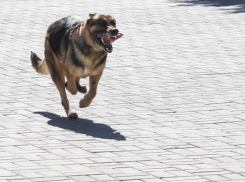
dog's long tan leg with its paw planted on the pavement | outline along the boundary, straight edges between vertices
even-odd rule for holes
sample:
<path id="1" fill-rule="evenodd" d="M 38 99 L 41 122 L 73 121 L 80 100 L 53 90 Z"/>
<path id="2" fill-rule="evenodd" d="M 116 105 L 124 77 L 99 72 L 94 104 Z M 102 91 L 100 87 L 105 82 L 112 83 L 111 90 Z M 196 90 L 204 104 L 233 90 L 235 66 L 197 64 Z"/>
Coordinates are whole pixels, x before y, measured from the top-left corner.
<path id="1" fill-rule="evenodd" d="M 59 68 L 59 65 L 57 64 L 58 60 L 54 59 L 52 52 L 49 50 L 45 50 L 45 58 L 50 71 L 51 78 L 60 93 L 61 104 L 63 105 L 66 111 L 67 117 L 69 119 L 77 119 L 78 116 L 76 113 L 72 112 L 72 109 L 69 104 L 69 100 L 66 95 L 65 76 L 63 75 L 62 69 Z"/>

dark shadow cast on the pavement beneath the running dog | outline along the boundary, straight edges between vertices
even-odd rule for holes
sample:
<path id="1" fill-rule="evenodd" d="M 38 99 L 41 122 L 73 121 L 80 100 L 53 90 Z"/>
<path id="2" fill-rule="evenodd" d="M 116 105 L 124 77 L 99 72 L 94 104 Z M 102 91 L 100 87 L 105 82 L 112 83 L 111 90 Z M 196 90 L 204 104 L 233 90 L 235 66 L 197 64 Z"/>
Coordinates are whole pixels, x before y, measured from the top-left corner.
<path id="1" fill-rule="evenodd" d="M 59 115 L 50 112 L 34 112 L 44 117 L 49 118 L 48 124 L 51 126 L 59 127 L 65 130 L 70 130 L 76 133 L 85 134 L 94 138 L 113 139 L 113 140 L 126 140 L 125 136 L 121 135 L 110 126 L 101 123 L 94 123 L 87 119 L 74 119 L 60 117 Z"/>

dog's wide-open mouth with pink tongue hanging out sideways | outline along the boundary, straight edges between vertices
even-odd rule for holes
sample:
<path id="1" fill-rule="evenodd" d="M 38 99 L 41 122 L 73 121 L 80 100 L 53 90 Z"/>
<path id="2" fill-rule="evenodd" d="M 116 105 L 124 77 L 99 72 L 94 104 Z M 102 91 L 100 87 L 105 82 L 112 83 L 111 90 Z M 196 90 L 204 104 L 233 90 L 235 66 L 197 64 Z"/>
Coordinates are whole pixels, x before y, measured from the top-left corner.
<path id="1" fill-rule="evenodd" d="M 100 40 L 101 44 L 104 47 L 104 50 L 108 53 L 111 53 L 113 51 L 112 43 L 121 38 L 123 34 L 118 33 L 116 36 L 111 36 L 111 35 L 105 35 L 105 34 L 98 34 L 97 37 Z"/>

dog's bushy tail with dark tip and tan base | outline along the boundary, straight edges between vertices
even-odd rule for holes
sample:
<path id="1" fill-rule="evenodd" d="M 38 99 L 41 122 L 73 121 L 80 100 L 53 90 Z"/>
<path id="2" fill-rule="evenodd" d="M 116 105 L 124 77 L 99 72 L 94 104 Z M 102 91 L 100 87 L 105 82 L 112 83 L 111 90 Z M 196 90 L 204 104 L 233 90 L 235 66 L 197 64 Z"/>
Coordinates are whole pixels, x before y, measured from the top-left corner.
<path id="1" fill-rule="evenodd" d="M 48 75 L 48 67 L 45 58 L 41 60 L 34 52 L 31 52 L 31 64 L 32 67 L 42 75 Z"/>

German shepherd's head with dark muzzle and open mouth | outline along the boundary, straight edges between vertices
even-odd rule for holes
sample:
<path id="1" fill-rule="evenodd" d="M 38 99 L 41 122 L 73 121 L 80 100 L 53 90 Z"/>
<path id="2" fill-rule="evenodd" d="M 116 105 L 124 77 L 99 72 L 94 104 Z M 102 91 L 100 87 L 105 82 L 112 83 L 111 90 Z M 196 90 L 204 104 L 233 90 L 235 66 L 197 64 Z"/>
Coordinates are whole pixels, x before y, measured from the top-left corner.
<path id="1" fill-rule="evenodd" d="M 90 40 L 87 39 L 89 41 L 87 43 L 95 50 L 111 53 L 112 43 L 123 36 L 116 28 L 116 20 L 110 15 L 89 14 L 89 17 L 90 19 L 86 22 L 85 36 L 89 36 Z"/>

